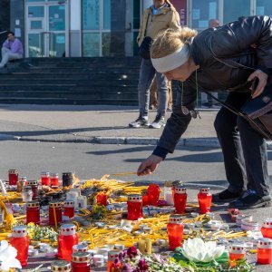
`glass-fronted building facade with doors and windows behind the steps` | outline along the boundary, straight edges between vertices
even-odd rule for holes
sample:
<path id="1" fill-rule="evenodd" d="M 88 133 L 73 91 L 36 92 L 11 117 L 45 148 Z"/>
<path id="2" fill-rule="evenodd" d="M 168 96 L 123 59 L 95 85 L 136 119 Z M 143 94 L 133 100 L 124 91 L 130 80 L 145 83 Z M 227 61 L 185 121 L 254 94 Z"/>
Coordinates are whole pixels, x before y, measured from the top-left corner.
<path id="1" fill-rule="evenodd" d="M 272 15 L 271 0 L 171 0 L 180 23 L 202 31 L 247 15 Z M 152 0 L 1 0 L 0 41 L 11 29 L 25 57 L 133 56 L 143 10 Z M 10 16 L 7 16 L 10 15 Z M 7 25 L 6 21 L 10 20 Z"/>

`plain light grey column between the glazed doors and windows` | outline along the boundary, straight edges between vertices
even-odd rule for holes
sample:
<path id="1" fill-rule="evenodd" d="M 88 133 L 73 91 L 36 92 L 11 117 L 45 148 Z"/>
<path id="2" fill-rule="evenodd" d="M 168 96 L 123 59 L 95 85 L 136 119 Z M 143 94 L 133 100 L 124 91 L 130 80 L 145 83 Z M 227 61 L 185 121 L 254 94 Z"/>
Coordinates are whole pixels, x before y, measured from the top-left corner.
<path id="1" fill-rule="evenodd" d="M 70 16 L 70 56 L 79 57 L 81 56 L 82 48 L 82 1 L 70 0 L 69 6 Z"/>

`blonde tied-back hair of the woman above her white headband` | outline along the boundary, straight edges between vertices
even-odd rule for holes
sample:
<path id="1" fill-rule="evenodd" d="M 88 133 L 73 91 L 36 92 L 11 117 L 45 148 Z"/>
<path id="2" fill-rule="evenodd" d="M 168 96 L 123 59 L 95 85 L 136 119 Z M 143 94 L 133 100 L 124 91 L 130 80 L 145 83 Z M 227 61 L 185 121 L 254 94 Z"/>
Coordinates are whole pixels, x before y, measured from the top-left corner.
<path id="1" fill-rule="evenodd" d="M 167 29 L 158 34 L 151 46 L 151 58 L 162 58 L 176 52 L 180 47 L 189 42 L 189 39 L 198 34 L 196 30 L 183 27 L 180 30 Z"/>

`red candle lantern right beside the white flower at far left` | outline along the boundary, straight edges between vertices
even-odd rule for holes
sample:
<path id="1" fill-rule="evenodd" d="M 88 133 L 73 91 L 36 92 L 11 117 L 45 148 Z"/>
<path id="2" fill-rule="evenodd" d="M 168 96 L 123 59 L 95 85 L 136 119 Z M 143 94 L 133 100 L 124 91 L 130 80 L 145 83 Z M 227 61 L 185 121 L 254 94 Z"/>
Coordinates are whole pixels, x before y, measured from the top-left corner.
<path id="1" fill-rule="evenodd" d="M 27 236 L 26 226 L 15 226 L 13 228 L 10 244 L 17 249 L 16 258 L 20 261 L 22 267 L 27 266 L 27 254 L 29 248 L 29 238 Z"/>

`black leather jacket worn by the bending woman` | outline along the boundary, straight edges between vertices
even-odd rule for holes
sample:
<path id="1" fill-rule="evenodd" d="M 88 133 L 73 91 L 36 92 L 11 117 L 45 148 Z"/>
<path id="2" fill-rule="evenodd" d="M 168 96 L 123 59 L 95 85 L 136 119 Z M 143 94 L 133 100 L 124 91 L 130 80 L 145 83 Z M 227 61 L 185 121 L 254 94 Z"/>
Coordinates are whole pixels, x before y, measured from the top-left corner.
<path id="1" fill-rule="evenodd" d="M 268 16 L 251 16 L 209 28 L 191 41 L 190 53 L 200 68 L 183 83 L 182 104 L 189 110 L 195 107 L 197 89 L 250 92 L 249 74 L 260 69 L 269 75 L 272 68 L 272 21 Z M 172 153 L 190 119 L 190 115 L 181 112 L 179 91 L 153 154 L 165 158 L 168 152 Z"/>

